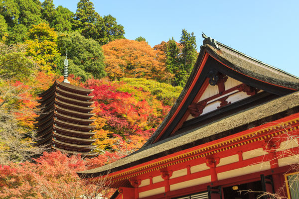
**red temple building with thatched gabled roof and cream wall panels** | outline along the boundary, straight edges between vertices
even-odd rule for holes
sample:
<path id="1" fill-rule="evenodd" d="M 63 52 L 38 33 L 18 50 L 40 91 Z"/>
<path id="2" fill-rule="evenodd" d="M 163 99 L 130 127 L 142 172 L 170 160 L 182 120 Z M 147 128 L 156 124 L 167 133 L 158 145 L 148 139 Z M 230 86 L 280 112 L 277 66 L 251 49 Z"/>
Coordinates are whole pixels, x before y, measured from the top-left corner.
<path id="1" fill-rule="evenodd" d="M 112 199 L 299 199 L 299 78 L 203 37 L 147 143 L 78 175 L 107 177 Z"/>

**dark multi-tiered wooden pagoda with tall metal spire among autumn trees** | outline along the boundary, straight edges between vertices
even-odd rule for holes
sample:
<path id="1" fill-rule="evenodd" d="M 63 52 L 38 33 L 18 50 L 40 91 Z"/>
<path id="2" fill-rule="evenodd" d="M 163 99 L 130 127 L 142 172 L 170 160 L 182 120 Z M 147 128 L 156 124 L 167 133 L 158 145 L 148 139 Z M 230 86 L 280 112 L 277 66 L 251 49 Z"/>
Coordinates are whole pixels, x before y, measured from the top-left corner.
<path id="1" fill-rule="evenodd" d="M 50 150 L 59 150 L 68 154 L 95 156 L 92 139 L 95 134 L 92 125 L 94 107 L 92 89 L 71 85 L 68 80 L 68 61 L 65 60 L 64 81 L 54 84 L 38 96 L 41 114 L 36 118 L 37 145 L 45 145 Z"/>

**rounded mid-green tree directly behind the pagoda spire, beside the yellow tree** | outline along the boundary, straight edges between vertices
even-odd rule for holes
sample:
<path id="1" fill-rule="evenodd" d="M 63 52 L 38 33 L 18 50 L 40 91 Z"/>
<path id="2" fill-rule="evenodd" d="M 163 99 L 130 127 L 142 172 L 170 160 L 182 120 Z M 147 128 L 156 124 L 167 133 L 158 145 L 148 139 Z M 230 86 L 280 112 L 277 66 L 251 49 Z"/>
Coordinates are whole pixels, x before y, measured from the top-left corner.
<path id="1" fill-rule="evenodd" d="M 68 52 L 69 73 L 79 76 L 83 81 L 102 78 L 106 75 L 104 54 L 101 46 L 93 39 L 86 39 L 78 32 L 58 37 L 61 53 Z"/>

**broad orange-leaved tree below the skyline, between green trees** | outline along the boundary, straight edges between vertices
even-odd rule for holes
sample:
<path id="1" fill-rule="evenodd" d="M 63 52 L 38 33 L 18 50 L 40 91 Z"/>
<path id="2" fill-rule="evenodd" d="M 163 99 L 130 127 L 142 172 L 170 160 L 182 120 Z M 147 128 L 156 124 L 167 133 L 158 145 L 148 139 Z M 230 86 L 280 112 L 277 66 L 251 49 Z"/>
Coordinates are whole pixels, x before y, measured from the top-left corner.
<path id="1" fill-rule="evenodd" d="M 160 62 L 158 52 L 145 41 L 128 39 L 112 41 L 103 47 L 106 72 L 111 79 L 148 78 L 158 82 L 169 82 L 172 75 Z"/>

